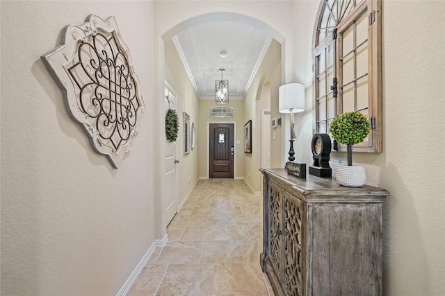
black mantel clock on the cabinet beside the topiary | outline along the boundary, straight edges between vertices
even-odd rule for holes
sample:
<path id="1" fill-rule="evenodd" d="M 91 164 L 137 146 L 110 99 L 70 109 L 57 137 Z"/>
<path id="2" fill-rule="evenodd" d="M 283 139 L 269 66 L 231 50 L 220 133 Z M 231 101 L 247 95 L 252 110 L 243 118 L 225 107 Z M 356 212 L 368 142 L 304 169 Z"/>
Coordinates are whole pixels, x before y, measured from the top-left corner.
<path id="1" fill-rule="evenodd" d="M 331 153 L 329 134 L 314 134 L 311 147 L 314 165 L 309 166 L 309 174 L 317 177 L 332 177 L 332 168 L 329 166 Z"/>

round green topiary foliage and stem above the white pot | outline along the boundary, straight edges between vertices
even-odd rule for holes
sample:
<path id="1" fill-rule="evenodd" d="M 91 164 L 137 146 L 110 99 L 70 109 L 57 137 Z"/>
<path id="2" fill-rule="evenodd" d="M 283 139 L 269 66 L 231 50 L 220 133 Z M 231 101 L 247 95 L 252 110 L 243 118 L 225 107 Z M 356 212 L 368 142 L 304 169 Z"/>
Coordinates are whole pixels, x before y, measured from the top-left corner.
<path id="1" fill-rule="evenodd" d="M 353 165 L 353 145 L 362 143 L 370 130 L 369 120 L 357 111 L 339 114 L 332 121 L 329 132 L 339 143 L 346 145 L 348 166 Z"/>

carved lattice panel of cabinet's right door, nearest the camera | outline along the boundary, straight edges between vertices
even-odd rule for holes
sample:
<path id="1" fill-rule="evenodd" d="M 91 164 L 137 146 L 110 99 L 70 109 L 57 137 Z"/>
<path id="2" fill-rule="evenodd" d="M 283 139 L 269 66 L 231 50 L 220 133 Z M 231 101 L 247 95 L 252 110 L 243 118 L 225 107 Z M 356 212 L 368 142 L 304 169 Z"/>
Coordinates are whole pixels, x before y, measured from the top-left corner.
<path id="1" fill-rule="evenodd" d="M 302 295 L 302 213 L 300 204 L 284 196 L 284 285 L 291 295 Z"/>

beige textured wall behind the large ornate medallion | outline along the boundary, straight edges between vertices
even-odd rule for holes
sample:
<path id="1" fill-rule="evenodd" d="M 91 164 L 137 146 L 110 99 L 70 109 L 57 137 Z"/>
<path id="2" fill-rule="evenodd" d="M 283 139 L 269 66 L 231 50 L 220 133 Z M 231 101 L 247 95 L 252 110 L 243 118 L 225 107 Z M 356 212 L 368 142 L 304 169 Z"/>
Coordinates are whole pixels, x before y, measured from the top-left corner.
<path id="1" fill-rule="evenodd" d="M 1 295 L 115 295 L 154 242 L 153 3 L 1 1 Z M 114 169 L 67 114 L 40 55 L 115 16 L 147 105 Z"/>

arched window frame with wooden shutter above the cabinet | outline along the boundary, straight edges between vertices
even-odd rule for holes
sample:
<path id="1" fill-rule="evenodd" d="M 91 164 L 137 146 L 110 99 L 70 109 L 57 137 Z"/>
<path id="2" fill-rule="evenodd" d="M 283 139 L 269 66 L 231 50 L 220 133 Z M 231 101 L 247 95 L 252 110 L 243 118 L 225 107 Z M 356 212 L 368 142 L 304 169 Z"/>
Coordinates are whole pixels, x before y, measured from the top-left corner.
<path id="1" fill-rule="evenodd" d="M 366 40 L 355 44 L 355 28 L 363 24 L 362 21 L 367 22 Z M 354 146 L 355 152 L 382 152 L 381 24 L 382 1 L 379 0 L 322 0 L 318 6 L 312 44 L 314 132 L 329 133 L 330 122 L 337 114 L 360 111 L 370 119 L 372 129 L 363 143 Z M 343 34 L 353 36 L 353 50 L 348 49 L 344 55 Z M 363 63 L 358 68 L 356 64 L 356 54 L 364 51 L 367 71 Z M 345 67 L 345 60 L 353 61 L 353 67 Z M 346 76 L 353 78 L 343 81 Z M 349 100 L 348 103 L 343 102 L 343 98 Z M 346 145 L 334 143 L 334 149 L 346 151 Z"/>

